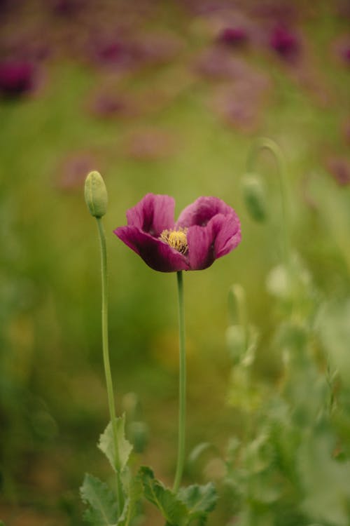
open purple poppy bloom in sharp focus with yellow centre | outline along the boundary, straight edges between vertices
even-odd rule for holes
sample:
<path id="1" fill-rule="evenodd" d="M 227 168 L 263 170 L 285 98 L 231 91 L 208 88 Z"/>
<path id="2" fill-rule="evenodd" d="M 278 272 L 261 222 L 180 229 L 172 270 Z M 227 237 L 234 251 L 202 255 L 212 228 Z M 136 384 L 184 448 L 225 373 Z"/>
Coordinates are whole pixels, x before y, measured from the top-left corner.
<path id="1" fill-rule="evenodd" d="M 146 194 L 114 234 L 160 272 L 207 269 L 241 241 L 235 210 L 217 197 L 198 198 L 176 223 L 174 208 L 174 198 Z"/>

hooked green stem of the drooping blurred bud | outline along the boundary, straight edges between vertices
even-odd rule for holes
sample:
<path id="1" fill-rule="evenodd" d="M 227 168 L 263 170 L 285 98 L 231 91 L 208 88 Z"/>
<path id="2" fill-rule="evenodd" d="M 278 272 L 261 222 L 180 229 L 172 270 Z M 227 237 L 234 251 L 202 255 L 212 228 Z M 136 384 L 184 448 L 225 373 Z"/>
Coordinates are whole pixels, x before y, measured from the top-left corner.
<path id="1" fill-rule="evenodd" d="M 276 161 L 277 172 L 279 175 L 279 187 L 281 191 L 281 203 L 282 203 L 282 228 L 283 228 L 283 256 L 286 264 L 290 264 L 290 221 L 288 214 L 288 203 L 287 203 L 287 170 L 286 163 L 281 148 L 276 142 L 267 137 L 261 137 L 256 140 L 251 147 L 251 151 L 248 154 L 246 161 L 246 168 L 248 172 L 252 172 L 257 161 L 260 151 L 267 149 Z"/>

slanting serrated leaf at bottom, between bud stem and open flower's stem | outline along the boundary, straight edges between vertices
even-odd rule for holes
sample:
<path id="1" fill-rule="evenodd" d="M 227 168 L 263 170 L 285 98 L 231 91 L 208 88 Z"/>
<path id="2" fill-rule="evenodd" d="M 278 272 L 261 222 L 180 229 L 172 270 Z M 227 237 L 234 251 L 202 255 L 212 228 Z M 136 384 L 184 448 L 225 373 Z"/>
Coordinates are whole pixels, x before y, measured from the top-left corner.
<path id="1" fill-rule="evenodd" d="M 186 505 L 176 495 L 155 479 L 153 471 L 143 466 L 140 476 L 144 485 L 144 495 L 148 501 L 157 506 L 168 526 L 186 526 L 189 516 Z"/>

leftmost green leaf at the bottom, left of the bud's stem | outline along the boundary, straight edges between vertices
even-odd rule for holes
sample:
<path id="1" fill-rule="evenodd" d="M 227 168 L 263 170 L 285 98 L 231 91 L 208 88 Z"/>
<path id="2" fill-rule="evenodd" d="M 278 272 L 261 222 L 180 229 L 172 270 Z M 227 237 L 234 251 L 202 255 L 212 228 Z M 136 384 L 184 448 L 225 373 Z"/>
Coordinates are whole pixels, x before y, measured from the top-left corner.
<path id="1" fill-rule="evenodd" d="M 80 495 L 88 508 L 84 518 L 92 526 L 116 526 L 118 503 L 109 487 L 98 478 L 86 473 Z"/>

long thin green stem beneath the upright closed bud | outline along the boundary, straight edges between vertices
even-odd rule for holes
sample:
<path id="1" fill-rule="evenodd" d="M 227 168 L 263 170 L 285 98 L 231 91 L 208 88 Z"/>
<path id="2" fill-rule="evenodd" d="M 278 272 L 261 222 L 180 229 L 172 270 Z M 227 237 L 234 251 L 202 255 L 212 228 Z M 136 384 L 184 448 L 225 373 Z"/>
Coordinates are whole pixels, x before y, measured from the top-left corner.
<path id="1" fill-rule="evenodd" d="M 109 415 L 113 431 L 114 455 L 116 468 L 120 466 L 118 449 L 118 431 L 116 419 L 116 406 L 114 403 L 113 381 L 111 374 L 111 363 L 109 361 L 109 330 L 108 330 L 108 274 L 107 274 L 107 248 L 106 236 L 101 217 L 97 217 L 97 227 L 99 229 L 99 243 L 101 248 L 101 274 L 102 274 L 102 350 L 104 356 L 104 375 L 106 377 L 107 397 L 109 402 Z M 120 481 L 120 474 L 117 471 L 117 494 L 119 512 L 123 510 L 124 497 Z"/>

